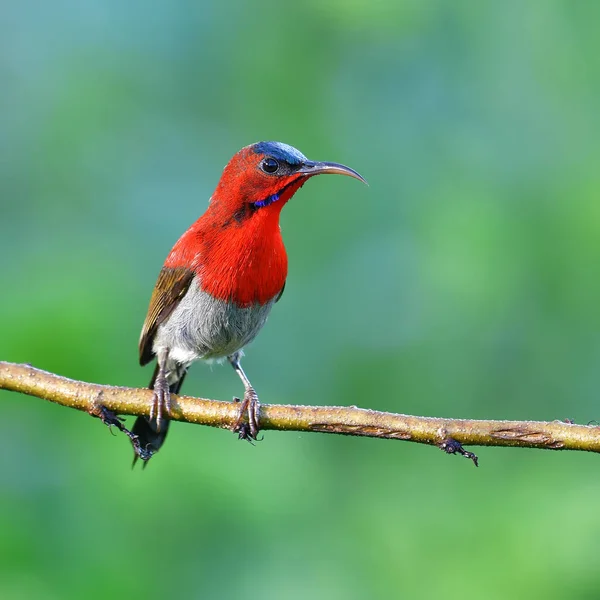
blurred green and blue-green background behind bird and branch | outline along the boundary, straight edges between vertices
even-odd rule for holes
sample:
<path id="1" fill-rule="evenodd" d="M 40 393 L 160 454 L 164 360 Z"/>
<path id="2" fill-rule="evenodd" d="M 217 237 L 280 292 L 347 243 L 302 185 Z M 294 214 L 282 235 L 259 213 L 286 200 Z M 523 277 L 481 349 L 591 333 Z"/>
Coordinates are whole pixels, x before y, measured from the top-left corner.
<path id="1" fill-rule="evenodd" d="M 5 0 L 0 359 L 146 385 L 164 257 L 241 146 L 286 207 L 263 402 L 600 419 L 600 4 Z M 240 393 L 201 364 L 184 391 Z M 600 597 L 600 463 L 175 424 L 145 472 L 0 392 L 0 597 Z"/>

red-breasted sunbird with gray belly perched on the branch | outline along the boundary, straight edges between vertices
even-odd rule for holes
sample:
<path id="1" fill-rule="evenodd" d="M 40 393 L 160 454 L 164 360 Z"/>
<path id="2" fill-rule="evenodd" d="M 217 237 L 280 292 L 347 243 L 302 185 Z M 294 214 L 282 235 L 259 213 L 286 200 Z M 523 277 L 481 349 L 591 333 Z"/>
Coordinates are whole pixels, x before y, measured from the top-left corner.
<path id="1" fill-rule="evenodd" d="M 241 438 L 257 439 L 260 402 L 241 366 L 243 348 L 285 288 L 281 209 L 306 181 L 323 174 L 367 183 L 350 167 L 311 161 L 274 141 L 242 148 L 223 169 L 206 212 L 173 246 L 150 298 L 139 359 L 144 366 L 156 358 L 149 385 L 152 408 L 132 428 L 134 465 L 140 458 L 145 467 L 162 447 L 171 395 L 179 394 L 196 360 L 231 364 L 244 385 L 233 430 Z"/>

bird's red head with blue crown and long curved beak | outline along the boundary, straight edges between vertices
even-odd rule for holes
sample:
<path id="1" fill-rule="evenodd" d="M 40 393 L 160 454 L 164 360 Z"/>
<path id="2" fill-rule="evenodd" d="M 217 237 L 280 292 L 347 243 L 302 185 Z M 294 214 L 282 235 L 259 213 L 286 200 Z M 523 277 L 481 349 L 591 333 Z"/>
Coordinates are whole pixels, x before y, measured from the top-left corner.
<path id="1" fill-rule="evenodd" d="M 367 183 L 353 169 L 315 162 L 281 142 L 258 142 L 242 148 L 223 171 L 211 207 L 225 210 L 238 223 L 258 211 L 277 212 L 311 177 L 347 175 Z"/>

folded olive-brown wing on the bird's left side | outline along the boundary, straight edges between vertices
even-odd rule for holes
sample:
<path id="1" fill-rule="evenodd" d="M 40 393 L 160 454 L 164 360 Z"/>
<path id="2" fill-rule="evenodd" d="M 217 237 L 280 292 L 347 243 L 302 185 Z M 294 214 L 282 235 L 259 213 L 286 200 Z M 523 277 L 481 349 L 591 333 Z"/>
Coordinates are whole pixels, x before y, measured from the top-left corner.
<path id="1" fill-rule="evenodd" d="M 148 314 L 140 336 L 140 364 L 144 366 L 154 357 L 152 343 L 158 326 L 177 308 L 194 278 L 194 272 L 185 267 L 163 267 L 150 298 Z"/>

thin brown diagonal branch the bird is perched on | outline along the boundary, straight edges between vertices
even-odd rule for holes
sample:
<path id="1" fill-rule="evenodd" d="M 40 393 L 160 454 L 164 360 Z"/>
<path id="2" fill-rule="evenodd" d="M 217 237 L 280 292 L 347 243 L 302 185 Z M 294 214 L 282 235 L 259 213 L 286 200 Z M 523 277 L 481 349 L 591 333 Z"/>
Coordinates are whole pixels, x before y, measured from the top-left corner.
<path id="1" fill-rule="evenodd" d="M 21 392 L 97 415 L 103 406 L 116 414 L 148 415 L 152 392 L 75 381 L 31 365 L 0 361 L 0 389 Z M 231 429 L 239 404 L 174 396 L 170 418 L 176 421 Z M 356 406 L 291 406 L 263 404 L 260 428 L 313 431 L 438 446 L 449 453 L 476 457 L 462 449 L 470 446 L 517 446 L 547 450 L 600 452 L 600 427 L 562 421 L 481 421 L 417 417 Z M 477 463 L 476 463 L 477 464 Z"/>

